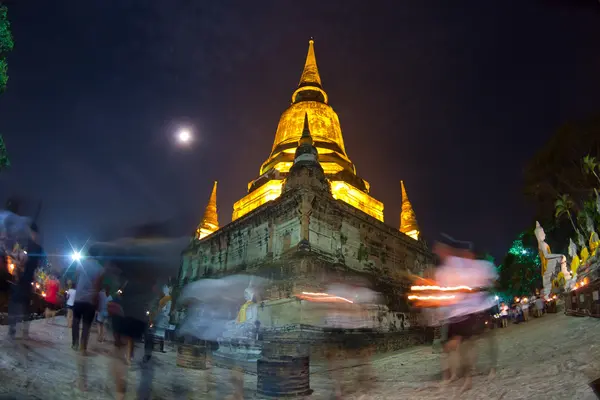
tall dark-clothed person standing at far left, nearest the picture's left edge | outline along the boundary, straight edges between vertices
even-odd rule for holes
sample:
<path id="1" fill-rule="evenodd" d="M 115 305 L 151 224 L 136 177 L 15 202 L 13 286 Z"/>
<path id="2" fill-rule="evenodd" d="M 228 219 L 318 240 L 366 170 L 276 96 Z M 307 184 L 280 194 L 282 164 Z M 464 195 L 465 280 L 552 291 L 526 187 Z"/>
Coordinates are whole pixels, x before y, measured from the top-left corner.
<path id="1" fill-rule="evenodd" d="M 8 335 L 11 339 L 17 333 L 17 322 L 23 323 L 23 337 L 29 336 L 29 323 L 26 321 L 27 309 L 31 300 L 31 287 L 35 279 L 35 271 L 44 259 L 44 250 L 39 244 L 38 227 L 33 223 L 30 227 L 30 238 L 27 243 L 27 259 L 22 272 L 17 276 L 16 283 L 11 288 L 8 306 Z"/>

